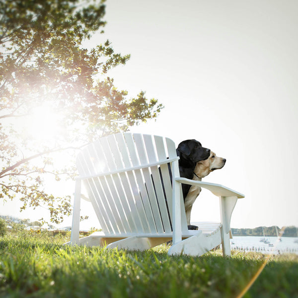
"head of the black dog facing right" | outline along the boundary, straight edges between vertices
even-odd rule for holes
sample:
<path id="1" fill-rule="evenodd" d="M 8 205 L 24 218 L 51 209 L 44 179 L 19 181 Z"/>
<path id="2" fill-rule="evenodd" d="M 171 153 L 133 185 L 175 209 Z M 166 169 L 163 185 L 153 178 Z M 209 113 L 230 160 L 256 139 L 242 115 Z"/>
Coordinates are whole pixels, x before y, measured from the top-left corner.
<path id="1" fill-rule="evenodd" d="M 180 153 L 179 156 L 182 154 L 185 159 L 198 162 L 209 157 L 210 149 L 202 147 L 200 142 L 193 139 L 182 141 L 178 145 L 177 153 Z"/>

